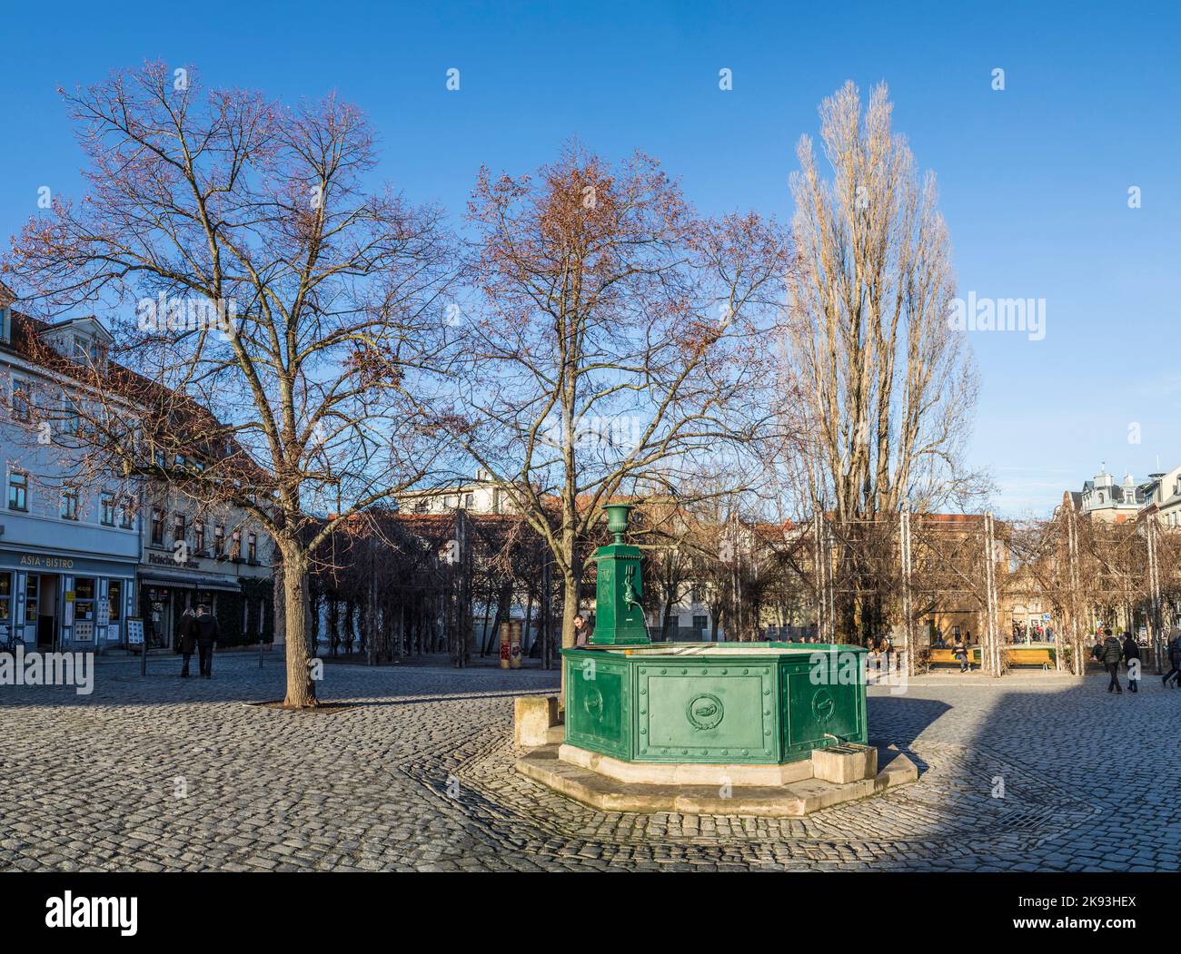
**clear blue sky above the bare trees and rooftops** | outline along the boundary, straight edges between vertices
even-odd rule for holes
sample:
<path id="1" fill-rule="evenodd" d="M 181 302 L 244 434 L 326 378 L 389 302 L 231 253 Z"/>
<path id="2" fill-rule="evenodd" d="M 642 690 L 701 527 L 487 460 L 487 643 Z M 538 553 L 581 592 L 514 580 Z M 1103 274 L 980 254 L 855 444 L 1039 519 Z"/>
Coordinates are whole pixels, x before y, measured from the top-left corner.
<path id="1" fill-rule="evenodd" d="M 972 458 L 993 469 L 998 510 L 1049 511 L 1101 460 L 1137 479 L 1181 463 L 1177 4 L 424 6 L 0 4 L 0 233 L 40 185 L 78 192 L 56 89 L 149 58 L 207 86 L 339 91 L 370 113 L 383 175 L 457 220 L 481 163 L 528 171 L 572 135 L 659 157 L 704 211 L 789 218 L 816 105 L 885 79 L 895 129 L 939 176 L 961 293 L 1046 301 L 1042 341 L 972 335 Z"/>

